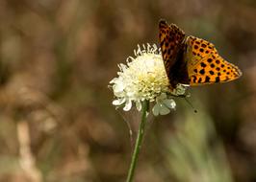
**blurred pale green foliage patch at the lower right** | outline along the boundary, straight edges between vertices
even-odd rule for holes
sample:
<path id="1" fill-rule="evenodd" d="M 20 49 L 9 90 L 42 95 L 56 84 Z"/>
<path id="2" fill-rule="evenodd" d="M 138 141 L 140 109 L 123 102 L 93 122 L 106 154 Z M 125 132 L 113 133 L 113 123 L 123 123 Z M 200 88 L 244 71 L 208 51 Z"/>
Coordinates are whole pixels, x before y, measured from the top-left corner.
<path id="1" fill-rule="evenodd" d="M 175 181 L 233 181 L 224 148 L 205 112 L 187 112 L 175 127 L 175 135 L 166 138 L 166 158 Z"/>

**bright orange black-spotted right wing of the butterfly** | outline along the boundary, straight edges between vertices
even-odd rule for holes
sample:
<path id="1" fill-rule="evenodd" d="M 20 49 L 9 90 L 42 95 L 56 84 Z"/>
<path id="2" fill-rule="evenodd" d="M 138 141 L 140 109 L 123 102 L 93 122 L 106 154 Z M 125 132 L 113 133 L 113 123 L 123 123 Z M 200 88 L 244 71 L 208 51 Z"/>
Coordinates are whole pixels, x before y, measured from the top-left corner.
<path id="1" fill-rule="evenodd" d="M 188 36 L 184 53 L 192 86 L 236 80 L 242 76 L 240 69 L 218 55 L 214 44 Z"/>

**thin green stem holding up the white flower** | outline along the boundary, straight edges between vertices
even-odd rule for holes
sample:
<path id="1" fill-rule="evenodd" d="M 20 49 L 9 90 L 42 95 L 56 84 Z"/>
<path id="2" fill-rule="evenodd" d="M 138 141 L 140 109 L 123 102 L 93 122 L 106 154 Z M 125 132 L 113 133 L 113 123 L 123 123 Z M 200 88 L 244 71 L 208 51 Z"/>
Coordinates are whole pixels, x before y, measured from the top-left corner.
<path id="1" fill-rule="evenodd" d="M 148 101 L 142 102 L 141 124 L 140 124 L 139 131 L 138 131 L 138 134 L 137 134 L 136 144 L 135 144 L 134 152 L 133 152 L 133 155 L 132 155 L 132 161 L 131 161 L 131 164 L 130 164 L 130 169 L 129 169 L 129 172 L 128 172 L 128 175 L 127 175 L 126 182 L 132 182 L 133 178 L 134 178 L 135 168 L 136 168 L 138 158 L 139 158 L 139 153 L 140 153 L 140 150 L 141 150 L 141 144 L 142 144 L 144 128 L 145 128 L 145 121 L 146 121 L 146 112 L 148 110 L 148 107 L 149 107 L 149 102 Z"/>

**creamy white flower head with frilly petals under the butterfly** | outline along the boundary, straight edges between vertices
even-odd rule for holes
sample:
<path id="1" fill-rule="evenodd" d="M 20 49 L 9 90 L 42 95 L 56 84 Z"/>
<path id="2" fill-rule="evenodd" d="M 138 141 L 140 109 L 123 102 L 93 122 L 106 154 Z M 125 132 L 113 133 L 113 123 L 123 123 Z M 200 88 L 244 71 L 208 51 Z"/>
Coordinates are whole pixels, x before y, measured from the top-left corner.
<path id="1" fill-rule="evenodd" d="M 128 57 L 126 62 L 127 65 L 118 65 L 118 77 L 110 81 L 115 95 L 114 105 L 124 105 L 123 110 L 128 111 L 135 102 L 140 111 L 142 101 L 154 102 L 153 114 L 156 116 L 166 115 L 169 109 L 175 108 L 171 95 L 184 95 L 186 88 L 178 84 L 170 91 L 163 58 L 155 44 L 142 45 L 142 49 L 138 45 L 135 58 Z"/>

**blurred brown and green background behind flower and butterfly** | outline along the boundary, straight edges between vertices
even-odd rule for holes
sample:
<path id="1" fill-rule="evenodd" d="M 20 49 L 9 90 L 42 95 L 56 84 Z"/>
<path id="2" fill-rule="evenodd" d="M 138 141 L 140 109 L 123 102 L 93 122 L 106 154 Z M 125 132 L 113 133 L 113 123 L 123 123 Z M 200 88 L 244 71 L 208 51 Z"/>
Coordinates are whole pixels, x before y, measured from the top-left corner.
<path id="1" fill-rule="evenodd" d="M 243 77 L 192 88 L 197 114 L 177 99 L 152 118 L 135 181 L 256 181 L 255 17 L 254 0 L 1 0 L 0 181 L 125 181 L 139 117 L 107 85 L 137 44 L 158 44 L 160 18 Z"/>

